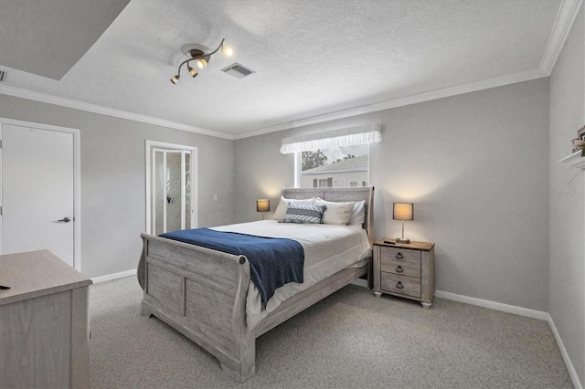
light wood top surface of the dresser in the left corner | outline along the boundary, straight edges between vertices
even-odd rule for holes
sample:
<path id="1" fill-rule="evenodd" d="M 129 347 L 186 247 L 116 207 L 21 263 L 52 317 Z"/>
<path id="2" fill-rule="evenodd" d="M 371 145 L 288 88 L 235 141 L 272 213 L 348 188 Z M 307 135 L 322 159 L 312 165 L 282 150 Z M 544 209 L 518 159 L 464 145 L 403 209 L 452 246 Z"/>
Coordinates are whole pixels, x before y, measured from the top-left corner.
<path id="1" fill-rule="evenodd" d="M 48 250 L 0 256 L 0 305 L 86 287 L 90 279 Z"/>

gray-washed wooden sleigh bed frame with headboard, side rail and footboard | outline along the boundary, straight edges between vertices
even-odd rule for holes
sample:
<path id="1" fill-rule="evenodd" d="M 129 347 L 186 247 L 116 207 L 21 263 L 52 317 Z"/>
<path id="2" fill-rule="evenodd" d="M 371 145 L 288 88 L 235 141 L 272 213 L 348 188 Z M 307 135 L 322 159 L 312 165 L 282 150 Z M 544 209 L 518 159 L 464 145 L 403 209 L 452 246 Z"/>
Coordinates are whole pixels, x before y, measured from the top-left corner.
<path id="1" fill-rule="evenodd" d="M 373 187 L 282 189 L 285 198 L 319 196 L 327 201 L 366 201 L 370 245 L 373 234 Z M 141 313 L 154 315 L 218 358 L 239 382 L 255 373 L 256 338 L 369 272 L 346 268 L 294 295 L 255 328 L 246 325 L 250 264 L 244 256 L 142 234 L 138 280 L 144 289 Z"/>

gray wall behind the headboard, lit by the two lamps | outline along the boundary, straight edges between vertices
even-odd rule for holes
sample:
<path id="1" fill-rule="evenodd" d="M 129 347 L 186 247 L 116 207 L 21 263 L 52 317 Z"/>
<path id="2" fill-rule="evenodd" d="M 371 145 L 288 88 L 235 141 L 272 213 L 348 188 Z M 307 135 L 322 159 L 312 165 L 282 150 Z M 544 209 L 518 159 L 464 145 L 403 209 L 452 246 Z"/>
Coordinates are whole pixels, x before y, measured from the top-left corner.
<path id="1" fill-rule="evenodd" d="M 237 221 L 293 186 L 282 138 L 367 122 L 383 128 L 370 147 L 376 238 L 399 236 L 391 203 L 412 201 L 406 235 L 436 242 L 437 289 L 548 310 L 548 79 L 238 140 Z"/>

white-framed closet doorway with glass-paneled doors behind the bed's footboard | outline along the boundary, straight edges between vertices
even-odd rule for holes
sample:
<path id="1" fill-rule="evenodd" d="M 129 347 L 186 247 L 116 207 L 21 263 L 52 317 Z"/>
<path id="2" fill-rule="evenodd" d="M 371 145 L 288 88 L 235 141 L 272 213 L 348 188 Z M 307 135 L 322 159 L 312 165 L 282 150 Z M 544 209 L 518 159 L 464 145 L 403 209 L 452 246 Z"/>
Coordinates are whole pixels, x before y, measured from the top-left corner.
<path id="1" fill-rule="evenodd" d="M 197 147 L 146 141 L 146 233 L 197 228 Z"/>

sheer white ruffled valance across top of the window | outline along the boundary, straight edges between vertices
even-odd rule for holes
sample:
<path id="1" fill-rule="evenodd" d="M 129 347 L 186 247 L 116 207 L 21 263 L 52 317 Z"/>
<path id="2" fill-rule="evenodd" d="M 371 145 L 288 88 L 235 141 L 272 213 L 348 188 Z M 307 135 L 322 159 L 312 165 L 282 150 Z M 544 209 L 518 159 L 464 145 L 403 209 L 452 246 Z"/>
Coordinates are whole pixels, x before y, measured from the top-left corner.
<path id="1" fill-rule="evenodd" d="M 308 152 L 339 146 L 355 146 L 382 141 L 382 126 L 378 123 L 346 127 L 339 130 L 309 133 L 282 140 L 281 152 Z"/>

